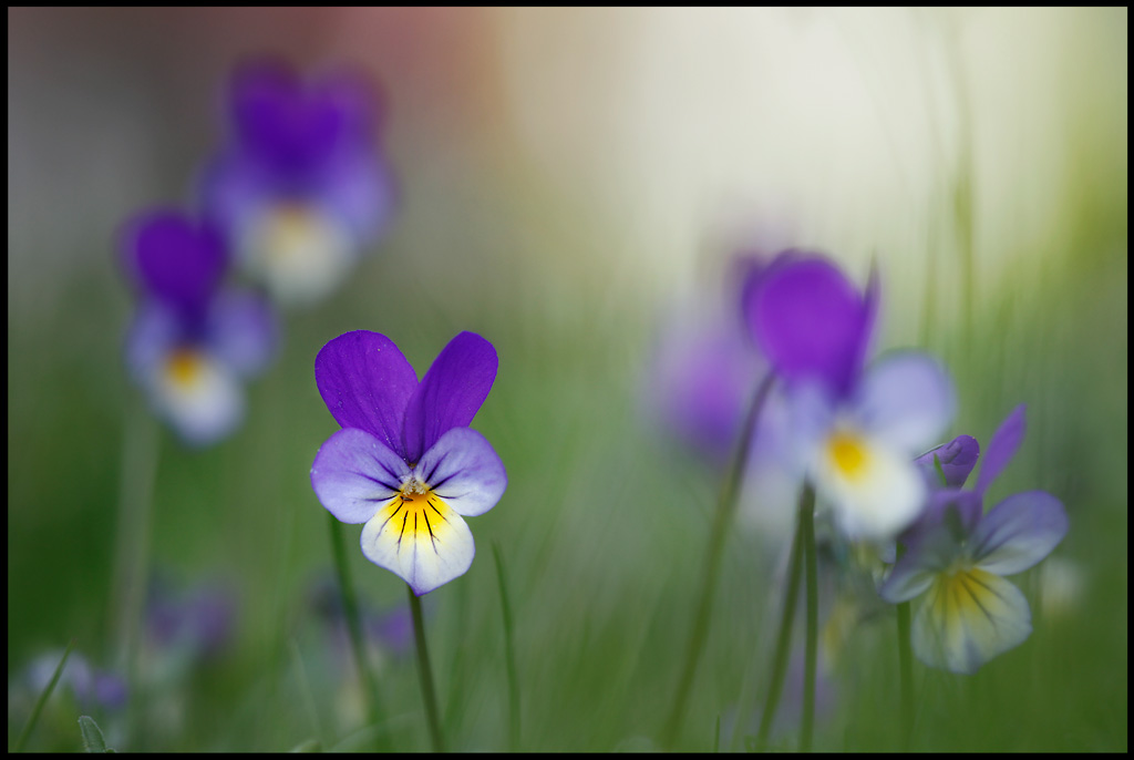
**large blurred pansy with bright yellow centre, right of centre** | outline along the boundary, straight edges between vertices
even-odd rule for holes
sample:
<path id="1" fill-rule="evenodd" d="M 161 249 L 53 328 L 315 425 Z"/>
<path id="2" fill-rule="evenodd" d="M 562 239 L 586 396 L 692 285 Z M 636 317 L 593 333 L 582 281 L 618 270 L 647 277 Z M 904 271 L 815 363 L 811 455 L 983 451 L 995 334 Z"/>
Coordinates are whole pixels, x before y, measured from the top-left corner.
<path id="1" fill-rule="evenodd" d="M 878 284 L 861 294 L 829 261 L 781 254 L 748 278 L 744 311 L 787 386 L 799 465 L 852 538 L 888 539 L 917 516 L 926 485 L 913 456 L 954 412 L 953 386 L 928 355 L 892 353 L 864 369 Z"/>

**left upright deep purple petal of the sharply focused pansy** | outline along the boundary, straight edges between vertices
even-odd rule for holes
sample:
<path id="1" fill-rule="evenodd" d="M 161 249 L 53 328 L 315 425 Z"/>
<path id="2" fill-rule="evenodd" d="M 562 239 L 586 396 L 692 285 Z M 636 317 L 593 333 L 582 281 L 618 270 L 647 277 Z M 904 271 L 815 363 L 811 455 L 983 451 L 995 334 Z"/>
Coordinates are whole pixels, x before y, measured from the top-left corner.
<path id="1" fill-rule="evenodd" d="M 406 458 L 401 430 L 417 374 L 392 340 L 369 330 L 340 335 L 315 357 L 315 385 L 336 422 L 365 430 Z"/>

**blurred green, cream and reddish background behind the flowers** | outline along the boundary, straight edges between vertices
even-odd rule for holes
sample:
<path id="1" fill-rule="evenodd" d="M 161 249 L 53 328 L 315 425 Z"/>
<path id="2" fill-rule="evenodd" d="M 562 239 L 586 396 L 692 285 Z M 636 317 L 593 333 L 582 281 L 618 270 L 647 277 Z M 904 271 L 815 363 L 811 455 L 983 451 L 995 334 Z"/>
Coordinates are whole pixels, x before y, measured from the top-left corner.
<path id="1" fill-rule="evenodd" d="M 116 235 L 141 208 L 192 202 L 227 76 L 260 53 L 381 82 L 399 201 L 347 286 L 285 315 L 243 428 L 194 451 L 127 382 Z M 1056 569 L 1018 581 L 1026 643 L 972 677 L 919 665 L 915 749 L 1125 750 L 1125 8 L 9 9 L 9 746 L 37 657 L 74 637 L 119 666 L 118 505 L 145 476 L 127 442 L 147 424 L 150 564 L 183 598 L 220 590 L 225 635 L 175 665 L 150 642 L 144 728 L 119 749 L 365 744 L 320 622 L 330 543 L 307 479 L 337 428 L 314 356 L 353 329 L 418 373 L 464 329 L 500 356 L 474 424 L 509 488 L 469 521 L 468 574 L 425 598 L 450 745 L 509 746 L 497 544 L 521 746 L 657 746 L 720 473 L 651 413 L 653 357 L 666 326 L 734 309 L 738 251 L 785 246 L 860 281 L 878 263 L 879 345 L 948 363 L 953 433 L 983 444 L 1026 403 L 992 496 L 1042 488 L 1070 517 Z M 364 603 L 397 613 L 404 584 L 347 535 Z M 744 719 L 742 694 L 759 701 L 784 541 L 729 538 L 687 749 Z M 864 617 L 820 749 L 897 748 L 892 616 Z M 373 647 L 389 731 L 425 749 L 412 656 Z M 29 748 L 79 749 L 81 711 L 113 745 L 120 710 L 79 701 L 61 690 Z"/>

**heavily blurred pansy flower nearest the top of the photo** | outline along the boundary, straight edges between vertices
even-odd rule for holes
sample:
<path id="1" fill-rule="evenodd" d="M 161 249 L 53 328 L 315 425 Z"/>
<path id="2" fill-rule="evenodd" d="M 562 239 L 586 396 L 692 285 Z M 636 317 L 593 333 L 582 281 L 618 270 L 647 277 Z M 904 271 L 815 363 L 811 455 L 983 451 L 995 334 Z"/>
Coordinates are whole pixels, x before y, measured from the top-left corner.
<path id="1" fill-rule="evenodd" d="M 393 187 L 374 144 L 375 110 L 355 70 L 304 85 L 286 64 L 264 59 L 232 75 L 231 140 L 206 168 L 203 205 L 281 302 L 325 296 L 386 228 Z"/>

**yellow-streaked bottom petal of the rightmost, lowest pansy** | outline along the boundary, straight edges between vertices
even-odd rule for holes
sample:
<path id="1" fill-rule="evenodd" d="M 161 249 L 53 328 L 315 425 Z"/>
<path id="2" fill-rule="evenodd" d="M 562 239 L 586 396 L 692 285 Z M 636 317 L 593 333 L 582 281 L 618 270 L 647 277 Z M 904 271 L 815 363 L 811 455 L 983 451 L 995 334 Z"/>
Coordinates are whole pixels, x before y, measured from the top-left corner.
<path id="1" fill-rule="evenodd" d="M 911 634 L 914 653 L 925 665 L 975 673 L 1031 632 L 1032 613 L 1019 589 L 974 567 L 937 577 Z"/>

